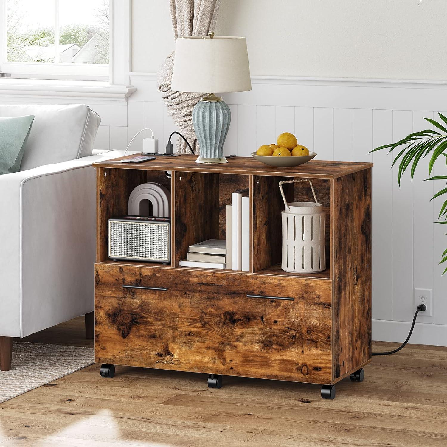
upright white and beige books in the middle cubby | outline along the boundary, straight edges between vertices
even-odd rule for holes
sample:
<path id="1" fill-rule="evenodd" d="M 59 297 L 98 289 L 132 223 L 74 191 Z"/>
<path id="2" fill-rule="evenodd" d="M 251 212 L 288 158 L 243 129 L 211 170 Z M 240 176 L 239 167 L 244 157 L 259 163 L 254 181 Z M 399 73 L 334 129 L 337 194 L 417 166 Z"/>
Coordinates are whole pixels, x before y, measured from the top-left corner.
<path id="1" fill-rule="evenodd" d="M 227 206 L 227 268 L 250 270 L 250 198 L 249 190 L 231 194 Z"/>

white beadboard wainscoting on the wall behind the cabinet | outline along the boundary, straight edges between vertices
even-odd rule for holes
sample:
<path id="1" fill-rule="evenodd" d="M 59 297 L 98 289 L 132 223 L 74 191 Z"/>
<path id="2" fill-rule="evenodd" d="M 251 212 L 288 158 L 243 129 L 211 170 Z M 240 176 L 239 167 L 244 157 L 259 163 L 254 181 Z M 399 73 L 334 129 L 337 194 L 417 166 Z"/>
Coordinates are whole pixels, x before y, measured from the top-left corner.
<path id="1" fill-rule="evenodd" d="M 137 131 L 151 127 L 164 151 L 176 126 L 156 89 L 156 76 L 132 73 L 131 84 L 137 91 L 127 102 L 0 97 L 0 103 L 85 102 L 102 118 L 95 148 L 124 149 Z M 413 289 L 422 288 L 433 291 L 432 316 L 417 317 L 411 342 L 446 346 L 447 274 L 442 276 L 439 260 L 447 236 L 443 225 L 434 224 L 443 199 L 430 201 L 443 182 L 423 181 L 427 159 L 413 183 L 405 173 L 399 187 L 392 157 L 369 151 L 431 127 L 423 118 L 447 109 L 447 83 L 253 76 L 252 84 L 250 92 L 222 95 L 232 112 L 225 153 L 249 156 L 290 131 L 321 160 L 374 162 L 373 340 L 405 340 L 415 311 Z M 142 138 L 135 138 L 131 149 L 139 150 Z M 439 160 L 433 175 L 442 173 L 445 165 Z"/>

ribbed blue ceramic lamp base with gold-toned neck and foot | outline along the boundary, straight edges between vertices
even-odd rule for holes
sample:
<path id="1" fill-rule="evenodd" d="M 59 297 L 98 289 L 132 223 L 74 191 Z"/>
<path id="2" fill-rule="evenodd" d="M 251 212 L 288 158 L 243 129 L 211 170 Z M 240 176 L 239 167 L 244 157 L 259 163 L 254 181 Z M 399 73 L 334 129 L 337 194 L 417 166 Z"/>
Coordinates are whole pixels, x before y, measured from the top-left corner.
<path id="1" fill-rule="evenodd" d="M 192 118 L 200 147 L 196 163 L 228 163 L 223 156 L 223 143 L 231 122 L 228 105 L 210 93 L 195 105 Z"/>

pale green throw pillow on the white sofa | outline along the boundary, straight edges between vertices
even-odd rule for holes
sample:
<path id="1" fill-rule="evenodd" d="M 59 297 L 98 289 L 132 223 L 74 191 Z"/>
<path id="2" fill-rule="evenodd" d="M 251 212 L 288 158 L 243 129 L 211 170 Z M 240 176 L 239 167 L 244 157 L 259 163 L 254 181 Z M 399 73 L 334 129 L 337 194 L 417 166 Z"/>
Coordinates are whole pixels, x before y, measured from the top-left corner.
<path id="1" fill-rule="evenodd" d="M 34 115 L 0 118 L 0 175 L 18 172 Z"/>

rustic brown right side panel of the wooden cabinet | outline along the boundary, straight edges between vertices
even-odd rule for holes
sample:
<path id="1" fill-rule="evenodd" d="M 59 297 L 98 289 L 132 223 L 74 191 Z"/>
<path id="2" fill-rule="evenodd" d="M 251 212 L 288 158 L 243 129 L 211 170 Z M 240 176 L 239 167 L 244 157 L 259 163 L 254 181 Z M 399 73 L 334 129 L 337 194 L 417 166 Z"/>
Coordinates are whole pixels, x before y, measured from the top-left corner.
<path id="1" fill-rule="evenodd" d="M 371 169 L 333 181 L 333 380 L 371 359 Z"/>

